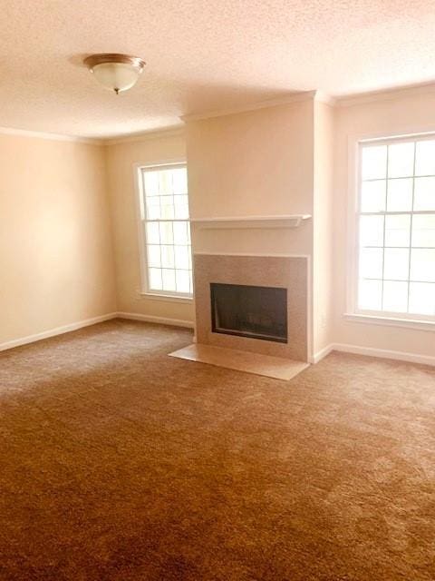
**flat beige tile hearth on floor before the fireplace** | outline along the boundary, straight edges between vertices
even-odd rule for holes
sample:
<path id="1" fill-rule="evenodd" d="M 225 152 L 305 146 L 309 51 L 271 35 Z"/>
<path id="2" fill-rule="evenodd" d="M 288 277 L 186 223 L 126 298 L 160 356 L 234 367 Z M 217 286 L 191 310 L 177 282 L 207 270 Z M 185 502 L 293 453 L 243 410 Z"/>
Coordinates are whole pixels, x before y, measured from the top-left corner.
<path id="1" fill-rule="evenodd" d="M 304 363 L 304 361 L 198 343 L 173 351 L 169 353 L 169 356 L 217 365 L 227 369 L 237 369 L 237 371 L 247 371 L 247 373 L 265 375 L 268 378 L 284 379 L 285 381 L 294 378 L 308 367 L 308 363 Z"/>

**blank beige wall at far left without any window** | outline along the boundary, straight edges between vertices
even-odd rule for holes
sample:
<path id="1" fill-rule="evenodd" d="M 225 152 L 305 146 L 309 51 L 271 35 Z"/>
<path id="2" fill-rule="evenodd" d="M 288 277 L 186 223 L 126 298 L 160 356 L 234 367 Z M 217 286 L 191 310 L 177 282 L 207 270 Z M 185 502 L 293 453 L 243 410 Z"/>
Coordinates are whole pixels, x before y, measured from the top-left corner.
<path id="1" fill-rule="evenodd" d="M 0 135 L 0 343 L 116 310 L 98 145 Z"/>

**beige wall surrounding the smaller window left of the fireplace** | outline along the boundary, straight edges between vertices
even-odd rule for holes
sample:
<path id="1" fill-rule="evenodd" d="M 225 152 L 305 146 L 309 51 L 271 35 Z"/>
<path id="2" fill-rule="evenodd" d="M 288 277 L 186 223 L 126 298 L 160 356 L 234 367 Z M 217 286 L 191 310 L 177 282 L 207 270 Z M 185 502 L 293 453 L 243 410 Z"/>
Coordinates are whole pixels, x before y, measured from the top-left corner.
<path id="1" fill-rule="evenodd" d="M 136 164 L 186 159 L 183 133 L 160 133 L 106 147 L 116 264 L 118 310 L 164 319 L 194 320 L 193 302 L 162 300 L 140 294 Z"/>

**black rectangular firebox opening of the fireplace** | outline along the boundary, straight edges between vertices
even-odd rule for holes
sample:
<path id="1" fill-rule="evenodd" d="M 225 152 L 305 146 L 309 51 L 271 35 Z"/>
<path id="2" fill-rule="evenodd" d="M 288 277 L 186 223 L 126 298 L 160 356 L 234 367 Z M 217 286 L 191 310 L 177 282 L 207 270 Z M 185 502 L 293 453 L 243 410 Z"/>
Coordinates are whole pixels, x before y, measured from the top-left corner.
<path id="1" fill-rule="evenodd" d="M 210 283 L 214 333 L 287 342 L 287 290 Z"/>

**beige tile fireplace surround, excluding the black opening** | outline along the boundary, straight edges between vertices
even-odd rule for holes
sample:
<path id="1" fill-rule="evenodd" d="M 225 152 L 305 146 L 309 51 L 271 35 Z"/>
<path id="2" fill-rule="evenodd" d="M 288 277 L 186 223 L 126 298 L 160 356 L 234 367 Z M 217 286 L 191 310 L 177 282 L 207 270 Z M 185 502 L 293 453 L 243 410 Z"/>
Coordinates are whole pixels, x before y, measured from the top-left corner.
<path id="1" fill-rule="evenodd" d="M 195 254 L 196 338 L 202 345 L 307 361 L 308 259 L 304 256 Z M 212 332 L 210 283 L 285 288 L 288 341 Z"/>

